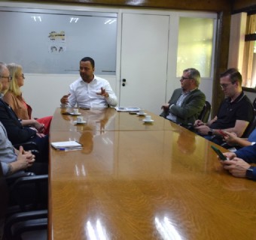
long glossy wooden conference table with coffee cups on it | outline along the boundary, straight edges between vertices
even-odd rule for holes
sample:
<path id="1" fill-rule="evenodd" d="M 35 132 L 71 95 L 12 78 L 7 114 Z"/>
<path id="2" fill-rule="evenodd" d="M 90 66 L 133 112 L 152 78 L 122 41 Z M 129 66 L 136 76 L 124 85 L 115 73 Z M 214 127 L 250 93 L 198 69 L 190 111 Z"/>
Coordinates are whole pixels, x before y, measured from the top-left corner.
<path id="1" fill-rule="evenodd" d="M 215 144 L 147 111 L 150 124 L 69 111 L 56 109 L 50 142 L 83 148 L 50 148 L 48 239 L 256 239 L 256 184 L 224 170 Z"/>

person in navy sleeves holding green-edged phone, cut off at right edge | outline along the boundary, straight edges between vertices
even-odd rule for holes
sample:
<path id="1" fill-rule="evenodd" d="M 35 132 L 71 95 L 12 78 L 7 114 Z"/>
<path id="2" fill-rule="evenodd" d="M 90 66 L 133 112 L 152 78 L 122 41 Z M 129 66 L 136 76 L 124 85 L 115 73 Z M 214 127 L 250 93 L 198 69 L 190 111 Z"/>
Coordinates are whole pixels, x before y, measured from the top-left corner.
<path id="1" fill-rule="evenodd" d="M 255 144 L 240 148 L 235 152 L 225 152 L 224 155 L 229 159 L 221 160 L 224 169 L 235 177 L 256 180 L 256 166 L 249 164 L 256 163 Z"/>

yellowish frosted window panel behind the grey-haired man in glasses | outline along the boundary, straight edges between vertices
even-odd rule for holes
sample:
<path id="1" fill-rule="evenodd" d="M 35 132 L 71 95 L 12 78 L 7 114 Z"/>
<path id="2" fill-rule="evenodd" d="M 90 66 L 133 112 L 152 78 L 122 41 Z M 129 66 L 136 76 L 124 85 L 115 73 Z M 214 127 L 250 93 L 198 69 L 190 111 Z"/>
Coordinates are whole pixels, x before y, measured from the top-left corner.
<path id="1" fill-rule="evenodd" d="M 186 68 L 197 68 L 201 77 L 211 77 L 213 33 L 213 19 L 180 18 L 176 77 Z"/>

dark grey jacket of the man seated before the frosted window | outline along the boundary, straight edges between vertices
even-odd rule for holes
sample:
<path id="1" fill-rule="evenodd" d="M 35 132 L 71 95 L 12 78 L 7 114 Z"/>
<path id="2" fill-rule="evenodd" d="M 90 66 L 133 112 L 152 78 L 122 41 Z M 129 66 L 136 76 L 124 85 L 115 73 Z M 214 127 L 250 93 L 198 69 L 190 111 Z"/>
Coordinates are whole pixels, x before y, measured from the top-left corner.
<path id="1" fill-rule="evenodd" d="M 182 93 L 182 89 L 175 89 L 172 93 L 172 97 L 169 100 L 169 106 L 176 104 L 178 98 Z M 198 116 L 203 110 L 203 106 L 206 102 L 206 96 L 199 89 L 190 92 L 186 98 L 184 98 L 181 107 L 172 106 L 171 110 L 163 111 L 160 115 L 166 118 L 169 115 L 169 111 L 177 117 L 176 123 L 178 124 L 194 124 L 194 121 L 198 119 Z"/>

